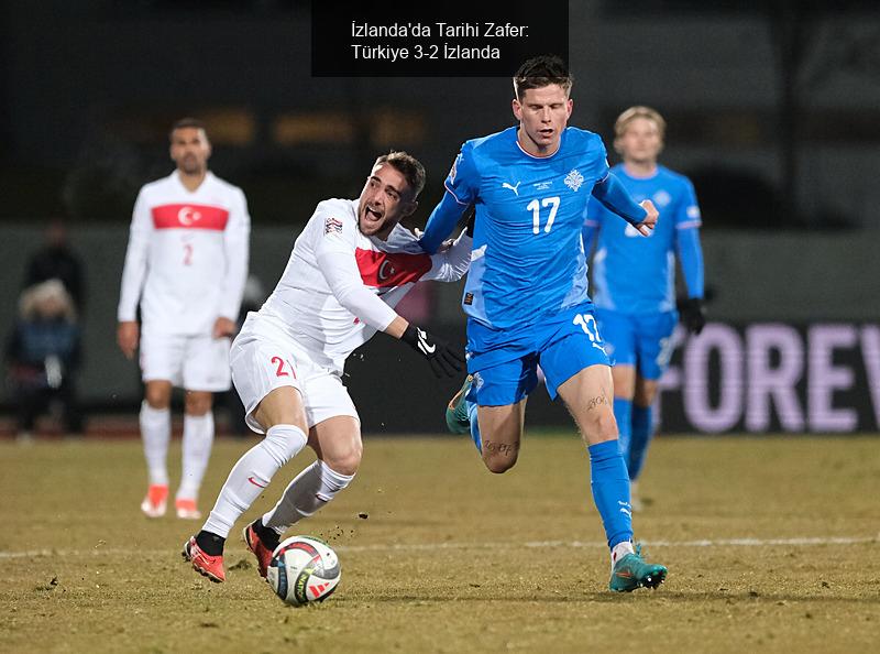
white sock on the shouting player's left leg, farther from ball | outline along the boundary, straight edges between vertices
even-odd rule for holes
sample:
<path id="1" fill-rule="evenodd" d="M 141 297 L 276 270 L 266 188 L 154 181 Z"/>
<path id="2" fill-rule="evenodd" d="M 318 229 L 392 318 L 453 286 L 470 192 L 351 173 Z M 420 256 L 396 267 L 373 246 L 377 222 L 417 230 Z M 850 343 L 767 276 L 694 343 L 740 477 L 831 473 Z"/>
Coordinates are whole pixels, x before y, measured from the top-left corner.
<path id="1" fill-rule="evenodd" d="M 275 425 L 266 437 L 244 453 L 220 489 L 217 503 L 202 527 L 227 537 L 232 525 L 260 497 L 275 472 L 306 446 L 306 435 L 295 425 Z"/>

